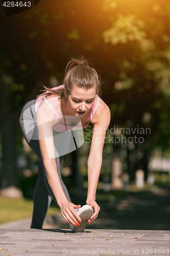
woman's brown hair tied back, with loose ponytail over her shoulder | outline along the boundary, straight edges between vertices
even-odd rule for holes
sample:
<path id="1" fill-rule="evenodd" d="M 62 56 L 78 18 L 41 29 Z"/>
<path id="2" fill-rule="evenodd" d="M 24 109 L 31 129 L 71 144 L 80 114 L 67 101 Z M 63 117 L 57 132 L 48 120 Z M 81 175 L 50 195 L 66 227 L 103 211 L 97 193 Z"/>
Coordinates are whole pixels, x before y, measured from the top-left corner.
<path id="1" fill-rule="evenodd" d="M 89 61 L 87 61 L 83 56 L 79 58 L 72 58 L 65 69 L 65 76 L 63 79 L 63 84 L 65 91 L 69 95 L 72 89 L 72 85 L 75 84 L 79 88 L 88 90 L 96 86 L 96 94 L 101 95 L 101 81 L 98 73 L 94 68 L 90 67 Z M 66 102 L 63 88 L 61 89 L 50 89 L 43 86 L 44 90 L 40 90 L 42 93 L 37 95 L 36 98 L 45 95 L 56 94 L 60 96 L 60 99 Z"/>

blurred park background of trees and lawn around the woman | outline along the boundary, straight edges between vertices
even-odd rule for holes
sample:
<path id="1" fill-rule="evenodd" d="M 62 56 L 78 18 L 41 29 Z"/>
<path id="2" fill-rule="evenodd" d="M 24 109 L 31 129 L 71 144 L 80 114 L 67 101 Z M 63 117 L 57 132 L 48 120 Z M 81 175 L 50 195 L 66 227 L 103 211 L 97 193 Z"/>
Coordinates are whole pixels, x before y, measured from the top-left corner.
<path id="1" fill-rule="evenodd" d="M 43 84 L 61 84 L 68 59 L 83 54 L 111 111 L 101 211 L 89 228 L 169 229 L 169 1 L 41 0 L 9 17 L 1 3 L 0 20 L 0 224 L 32 216 L 38 159 L 20 131 L 23 105 Z M 61 163 L 71 200 L 82 205 L 91 136 L 89 125 L 83 146 Z M 59 212 L 52 203 L 48 215 Z"/>

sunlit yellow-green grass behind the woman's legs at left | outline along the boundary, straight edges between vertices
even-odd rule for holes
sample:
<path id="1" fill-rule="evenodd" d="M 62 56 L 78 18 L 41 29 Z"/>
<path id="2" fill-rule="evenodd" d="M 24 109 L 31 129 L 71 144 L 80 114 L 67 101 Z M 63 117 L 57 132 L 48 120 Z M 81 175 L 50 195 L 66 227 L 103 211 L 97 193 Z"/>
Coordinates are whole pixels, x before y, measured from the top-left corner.
<path id="1" fill-rule="evenodd" d="M 32 217 L 33 201 L 31 200 L 0 197 L 0 205 L 0 224 Z M 54 215 L 56 212 L 59 212 L 59 209 L 50 206 L 47 214 Z"/>

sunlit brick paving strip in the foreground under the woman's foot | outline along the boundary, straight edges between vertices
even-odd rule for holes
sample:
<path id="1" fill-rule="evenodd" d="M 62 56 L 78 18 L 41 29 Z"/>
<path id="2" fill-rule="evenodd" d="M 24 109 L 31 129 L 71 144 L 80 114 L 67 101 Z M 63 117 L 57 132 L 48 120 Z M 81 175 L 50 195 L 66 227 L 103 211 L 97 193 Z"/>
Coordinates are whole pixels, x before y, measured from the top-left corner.
<path id="1" fill-rule="evenodd" d="M 167 255 L 170 231 L 85 229 L 0 229 L 0 256 Z M 102 254 L 103 253 L 103 254 Z"/>

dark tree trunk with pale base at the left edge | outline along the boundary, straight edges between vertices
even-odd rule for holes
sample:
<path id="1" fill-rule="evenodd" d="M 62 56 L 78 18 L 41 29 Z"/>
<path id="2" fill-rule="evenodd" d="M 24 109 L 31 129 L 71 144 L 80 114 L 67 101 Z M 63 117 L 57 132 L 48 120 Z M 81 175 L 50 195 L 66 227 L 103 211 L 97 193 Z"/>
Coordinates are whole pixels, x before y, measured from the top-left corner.
<path id="1" fill-rule="evenodd" d="M 12 109 L 11 84 L 13 78 L 4 73 L 1 77 L 1 141 L 3 171 L 1 179 L 1 195 L 7 197 L 22 197 L 16 170 L 16 118 Z M 15 189 L 14 189 L 15 187 Z M 9 189 L 8 189 L 9 188 Z M 12 190 L 11 190 L 12 189 Z"/>

